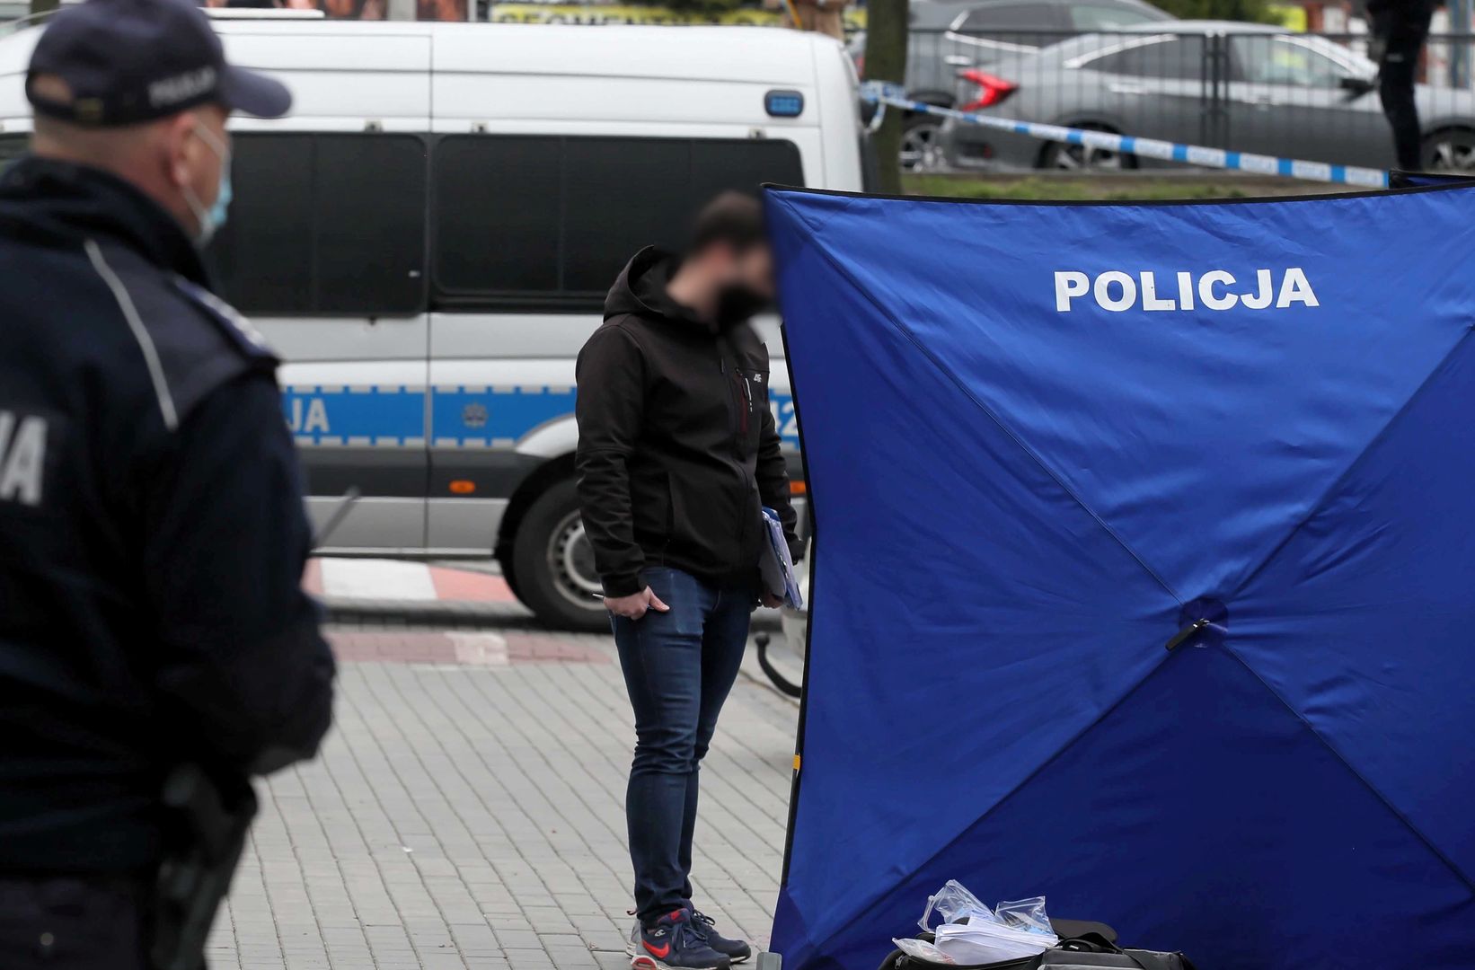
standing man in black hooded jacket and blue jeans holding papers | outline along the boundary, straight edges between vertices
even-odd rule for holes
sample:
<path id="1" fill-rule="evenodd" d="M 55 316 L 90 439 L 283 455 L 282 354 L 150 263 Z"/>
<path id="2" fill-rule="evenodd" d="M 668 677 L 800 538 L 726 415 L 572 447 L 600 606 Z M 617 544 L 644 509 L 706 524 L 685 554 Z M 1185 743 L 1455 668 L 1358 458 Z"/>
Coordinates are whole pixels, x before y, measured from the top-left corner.
<path id="1" fill-rule="evenodd" d="M 578 497 L 636 715 L 636 967 L 749 957 L 695 910 L 690 871 L 698 768 L 758 603 L 761 506 L 798 551 L 768 351 L 748 324 L 771 298 L 763 211 L 726 193 L 686 258 L 636 254 L 578 355 Z"/>

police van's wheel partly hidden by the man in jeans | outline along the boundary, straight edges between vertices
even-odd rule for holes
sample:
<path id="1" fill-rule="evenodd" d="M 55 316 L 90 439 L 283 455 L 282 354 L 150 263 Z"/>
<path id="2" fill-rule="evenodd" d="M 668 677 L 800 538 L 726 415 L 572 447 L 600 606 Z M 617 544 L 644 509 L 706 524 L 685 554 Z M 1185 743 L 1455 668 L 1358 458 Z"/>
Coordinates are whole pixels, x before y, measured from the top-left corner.
<path id="1" fill-rule="evenodd" d="M 558 482 L 528 509 L 518 526 L 512 563 L 518 597 L 544 624 L 587 632 L 609 629 L 572 479 Z"/>

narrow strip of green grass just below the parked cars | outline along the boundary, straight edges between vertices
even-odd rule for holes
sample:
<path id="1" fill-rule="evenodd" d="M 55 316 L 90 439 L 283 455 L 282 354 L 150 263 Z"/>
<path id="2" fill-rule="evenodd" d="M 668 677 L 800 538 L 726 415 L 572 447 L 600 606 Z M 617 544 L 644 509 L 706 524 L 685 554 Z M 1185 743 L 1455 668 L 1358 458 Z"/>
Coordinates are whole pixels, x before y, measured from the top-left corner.
<path id="1" fill-rule="evenodd" d="M 1158 199 L 1243 199 L 1263 193 L 1261 187 L 1246 192 L 1242 186 L 1221 181 L 1186 181 L 1183 178 L 1143 178 L 1128 175 L 1121 178 L 988 178 L 957 175 L 903 175 L 901 187 L 907 195 L 951 196 L 959 199 L 1025 199 L 1066 202 L 1128 202 Z"/>

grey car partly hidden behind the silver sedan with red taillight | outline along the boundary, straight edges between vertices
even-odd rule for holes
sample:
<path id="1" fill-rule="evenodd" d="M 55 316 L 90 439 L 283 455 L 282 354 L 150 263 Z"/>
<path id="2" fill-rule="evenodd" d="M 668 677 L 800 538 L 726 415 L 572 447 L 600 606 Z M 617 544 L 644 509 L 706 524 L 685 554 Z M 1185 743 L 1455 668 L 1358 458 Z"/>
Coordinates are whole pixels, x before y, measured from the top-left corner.
<path id="1" fill-rule="evenodd" d="M 960 69 L 1032 53 L 1084 31 L 1173 19 L 1143 0 L 913 0 L 909 12 L 907 93 L 941 108 L 953 106 Z M 853 37 L 848 50 L 863 69 L 866 35 Z M 913 114 L 906 125 L 901 167 L 909 171 L 938 167 L 941 119 Z"/>

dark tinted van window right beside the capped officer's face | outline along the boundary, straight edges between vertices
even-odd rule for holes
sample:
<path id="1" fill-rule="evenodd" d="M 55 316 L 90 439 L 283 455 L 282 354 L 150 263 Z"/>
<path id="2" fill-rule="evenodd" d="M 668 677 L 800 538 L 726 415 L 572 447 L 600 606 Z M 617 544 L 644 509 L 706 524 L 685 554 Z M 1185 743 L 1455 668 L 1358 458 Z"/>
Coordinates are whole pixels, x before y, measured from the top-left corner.
<path id="1" fill-rule="evenodd" d="M 425 308 L 425 140 L 233 139 L 230 220 L 211 246 L 226 298 L 254 314 Z"/>

